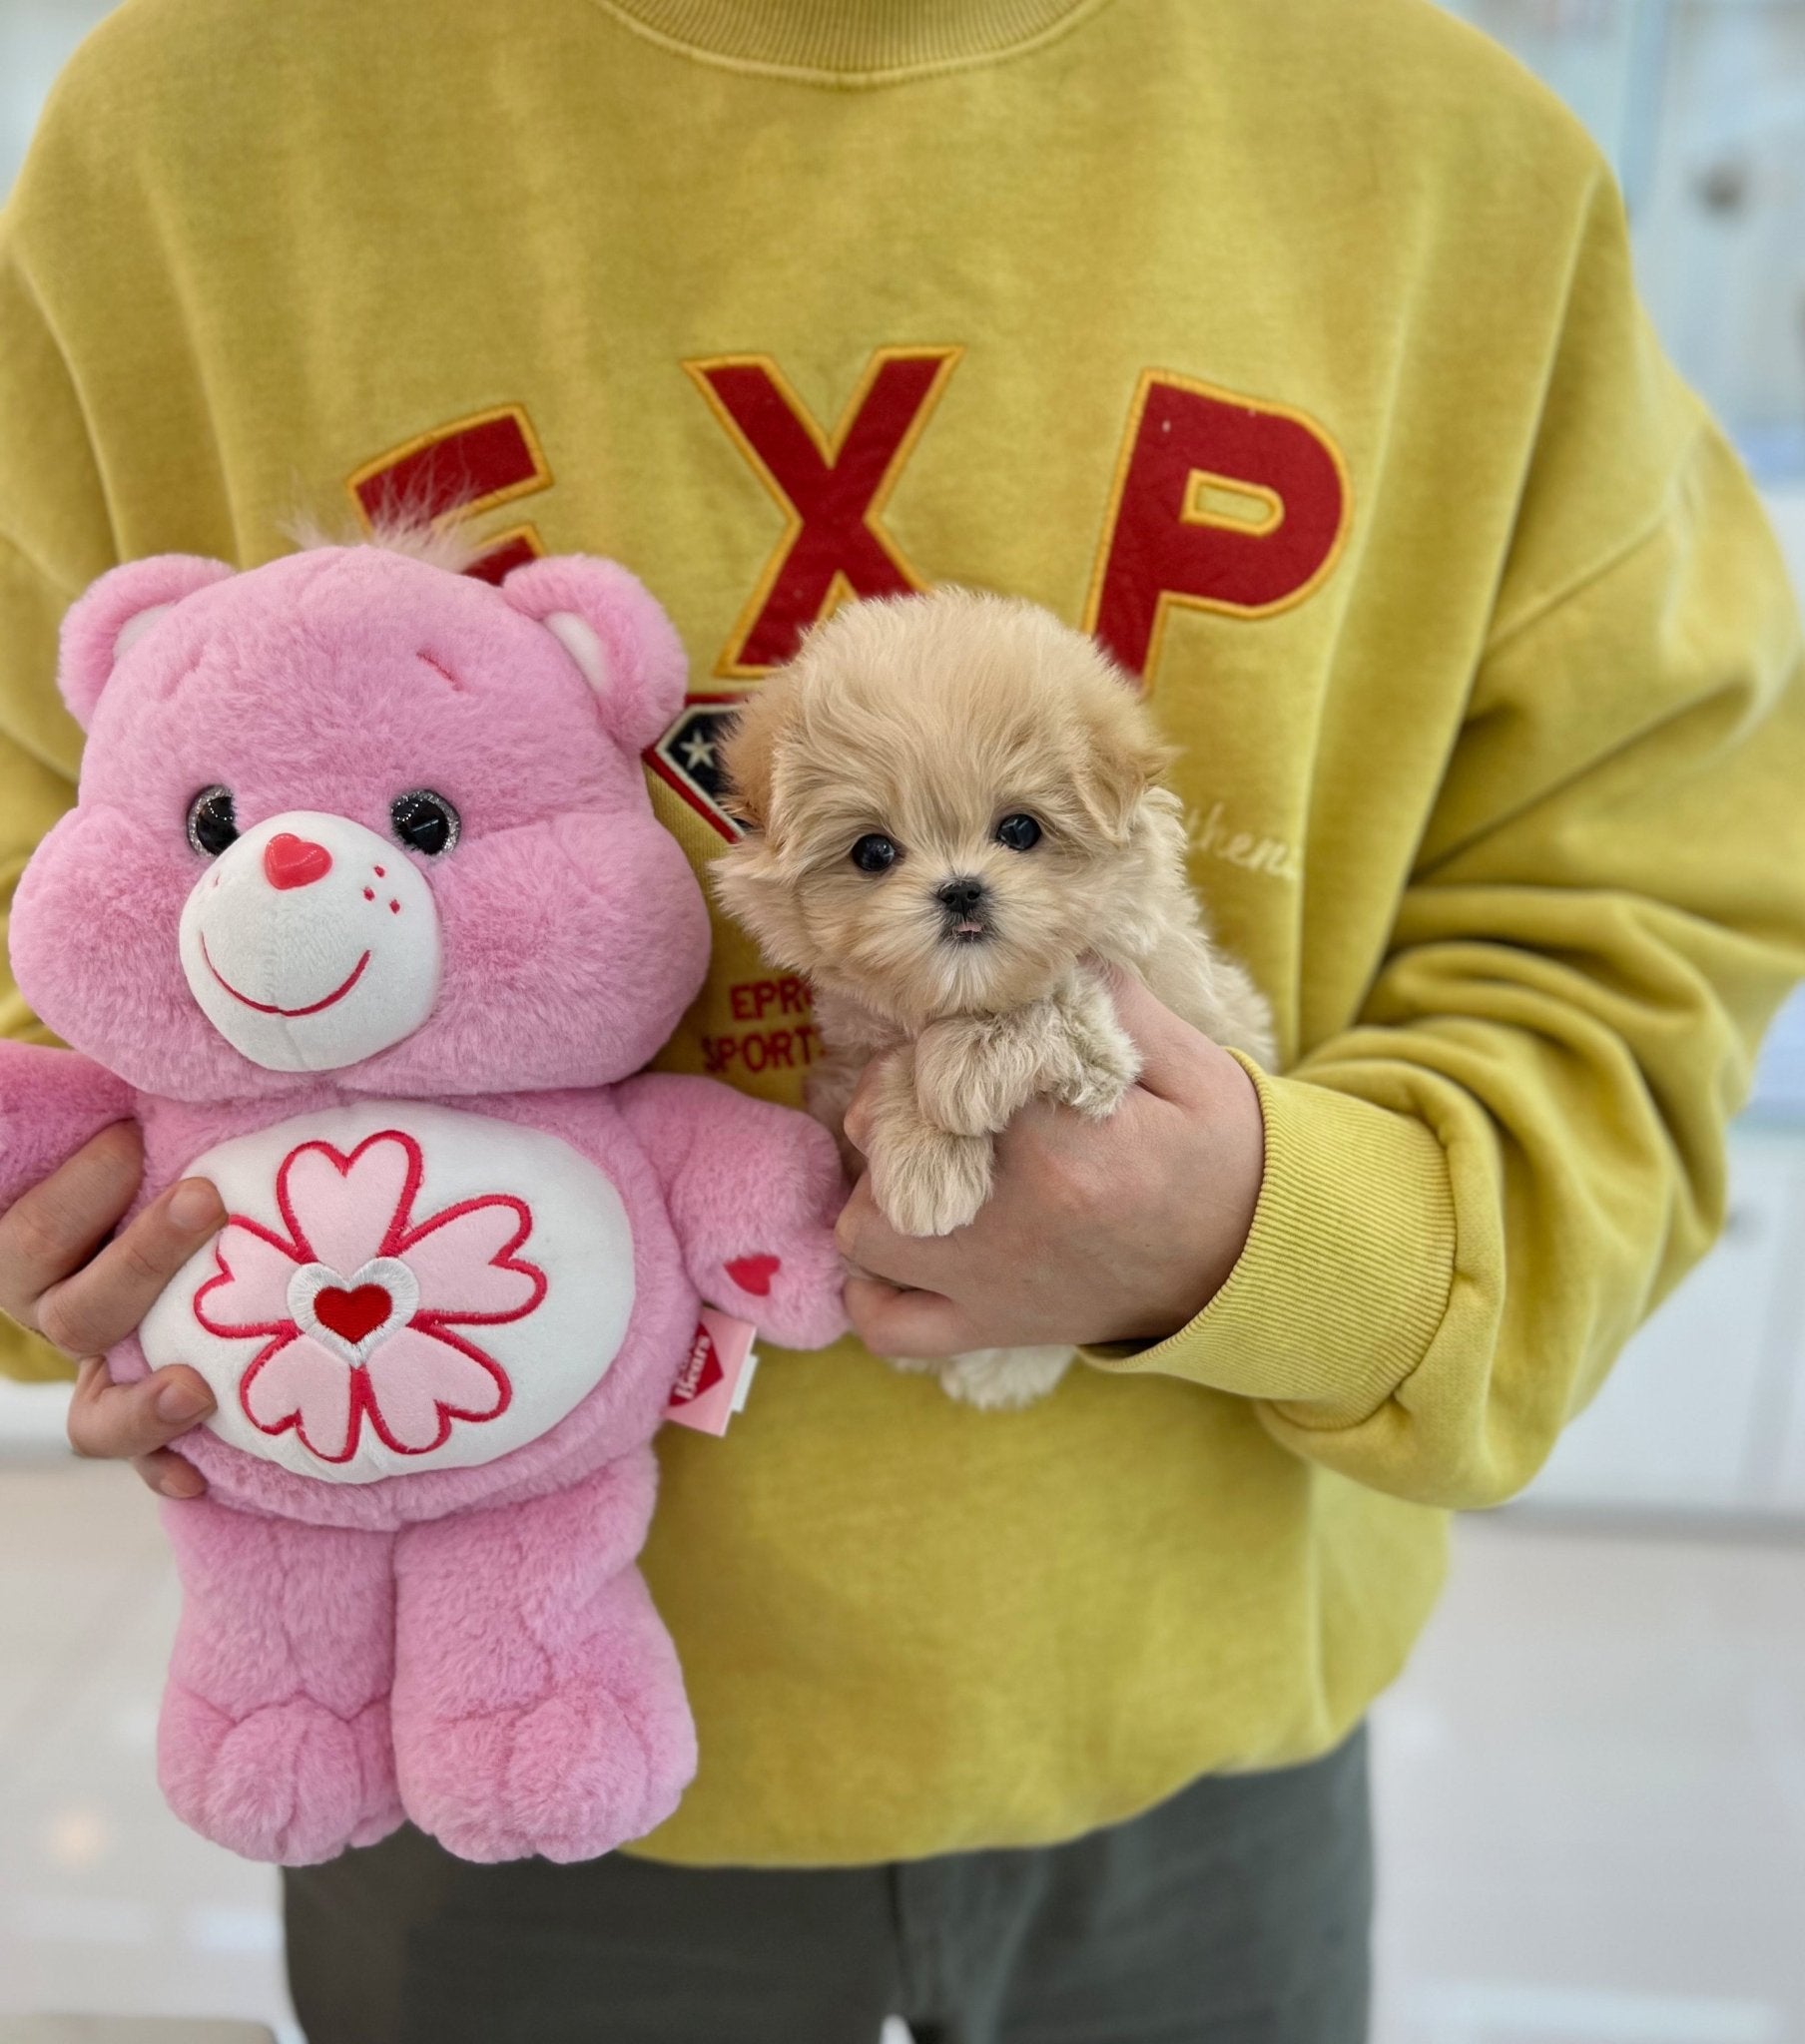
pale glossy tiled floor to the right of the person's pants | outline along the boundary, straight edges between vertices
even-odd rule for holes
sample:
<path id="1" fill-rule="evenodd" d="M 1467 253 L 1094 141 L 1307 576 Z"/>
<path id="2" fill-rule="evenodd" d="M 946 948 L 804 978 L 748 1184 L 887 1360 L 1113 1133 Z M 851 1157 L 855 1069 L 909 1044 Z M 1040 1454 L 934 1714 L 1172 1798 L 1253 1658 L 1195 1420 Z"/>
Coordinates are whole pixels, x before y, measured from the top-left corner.
<path id="1" fill-rule="evenodd" d="M 1805 1543 L 1468 1521 L 1378 1760 L 1376 2044 L 1805 2040 Z"/>

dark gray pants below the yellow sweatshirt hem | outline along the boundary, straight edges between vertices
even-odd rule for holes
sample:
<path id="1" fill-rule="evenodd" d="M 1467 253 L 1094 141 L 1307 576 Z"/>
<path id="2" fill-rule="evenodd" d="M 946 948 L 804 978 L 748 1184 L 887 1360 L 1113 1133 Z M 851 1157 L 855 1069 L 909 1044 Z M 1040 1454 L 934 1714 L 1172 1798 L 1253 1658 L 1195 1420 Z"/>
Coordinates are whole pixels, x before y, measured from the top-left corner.
<path id="1" fill-rule="evenodd" d="M 807 1872 L 290 1870 L 309 2044 L 1361 2044 L 1366 1735 L 1069 1846 Z"/>

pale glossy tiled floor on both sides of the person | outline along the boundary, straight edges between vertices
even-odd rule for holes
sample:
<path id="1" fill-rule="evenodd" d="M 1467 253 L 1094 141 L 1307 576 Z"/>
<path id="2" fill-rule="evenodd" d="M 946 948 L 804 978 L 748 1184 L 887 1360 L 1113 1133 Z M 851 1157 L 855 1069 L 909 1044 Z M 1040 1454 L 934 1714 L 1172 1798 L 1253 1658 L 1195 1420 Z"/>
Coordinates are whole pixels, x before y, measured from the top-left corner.
<path id="1" fill-rule="evenodd" d="M 0 2017 L 286 2024 L 151 1778 L 172 1623 L 125 1472 L 0 1468 Z M 1468 1523 L 1378 1758 L 1376 2044 L 1805 2040 L 1805 1545 Z"/>

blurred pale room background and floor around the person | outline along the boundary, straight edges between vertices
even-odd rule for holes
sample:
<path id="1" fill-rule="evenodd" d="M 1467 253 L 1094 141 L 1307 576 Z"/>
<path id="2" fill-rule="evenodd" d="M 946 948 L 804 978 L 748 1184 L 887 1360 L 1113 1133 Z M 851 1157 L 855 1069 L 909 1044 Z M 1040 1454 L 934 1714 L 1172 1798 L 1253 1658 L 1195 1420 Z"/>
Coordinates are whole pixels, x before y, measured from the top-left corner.
<path id="1" fill-rule="evenodd" d="M 1805 0 L 1453 10 L 1609 155 L 1654 319 L 1805 589 Z M 0 0 L 0 194 L 106 12 Z M 1378 1711 L 1376 2044 L 1805 2040 L 1805 1004 L 1731 1183 L 1721 1247 L 1529 1496 L 1460 1525 Z M 0 1384 L 0 2044 L 55 2009 L 298 2044 L 274 1878 L 155 1791 L 176 1592 L 153 1502 L 70 1461 L 61 1402 Z"/>

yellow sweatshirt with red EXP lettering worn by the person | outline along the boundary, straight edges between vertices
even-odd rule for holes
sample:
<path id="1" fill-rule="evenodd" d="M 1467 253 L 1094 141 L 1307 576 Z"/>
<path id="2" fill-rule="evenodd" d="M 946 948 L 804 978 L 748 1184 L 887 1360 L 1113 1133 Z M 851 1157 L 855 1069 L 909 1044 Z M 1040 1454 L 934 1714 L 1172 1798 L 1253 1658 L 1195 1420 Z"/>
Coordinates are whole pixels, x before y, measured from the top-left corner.
<path id="1" fill-rule="evenodd" d="M 775 1355 L 666 1435 L 703 1762 L 646 1850 L 1055 1840 L 1325 1750 L 1443 1511 L 1709 1243 L 1805 965 L 1793 603 L 1578 127 L 1421 0 L 131 0 L 0 245 L 8 871 L 90 576 L 460 491 L 491 566 L 673 609 L 697 865 L 722 703 L 848 591 L 1098 630 L 1288 1059 L 1171 1341 L 1014 1416 Z M 666 1063 L 789 1100 L 814 1051 L 720 928 Z"/>

